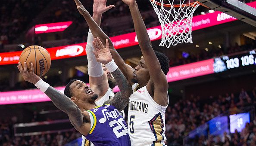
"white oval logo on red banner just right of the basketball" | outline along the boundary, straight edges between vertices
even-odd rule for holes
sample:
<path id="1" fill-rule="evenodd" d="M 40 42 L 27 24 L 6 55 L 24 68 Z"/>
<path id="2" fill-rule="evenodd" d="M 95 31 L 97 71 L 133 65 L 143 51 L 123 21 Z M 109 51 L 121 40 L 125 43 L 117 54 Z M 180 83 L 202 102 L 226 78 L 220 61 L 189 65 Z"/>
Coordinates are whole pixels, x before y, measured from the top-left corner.
<path id="1" fill-rule="evenodd" d="M 56 57 L 60 56 L 76 56 L 81 54 L 84 51 L 84 48 L 82 46 L 74 45 L 74 46 L 67 46 L 62 49 L 58 49 L 56 51 Z"/>

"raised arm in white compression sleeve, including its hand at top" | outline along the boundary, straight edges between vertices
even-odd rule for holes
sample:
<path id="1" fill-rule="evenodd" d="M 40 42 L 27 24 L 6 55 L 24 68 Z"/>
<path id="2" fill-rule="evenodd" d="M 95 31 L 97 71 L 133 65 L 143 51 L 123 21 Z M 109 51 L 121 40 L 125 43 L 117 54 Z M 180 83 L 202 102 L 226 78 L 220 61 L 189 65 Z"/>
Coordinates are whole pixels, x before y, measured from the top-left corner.
<path id="1" fill-rule="evenodd" d="M 93 19 L 100 26 L 100 20 L 103 12 L 114 7 L 114 5 L 106 6 L 106 0 L 94 0 L 93 5 Z M 94 56 L 93 48 L 93 39 L 94 36 L 91 33 L 91 30 L 88 32 L 87 36 L 87 45 L 86 45 L 86 54 L 88 61 L 88 75 L 89 75 L 89 84 L 96 94 L 100 97 L 104 96 L 109 89 L 108 79 L 106 74 L 103 73 L 102 64 L 97 62 Z"/>

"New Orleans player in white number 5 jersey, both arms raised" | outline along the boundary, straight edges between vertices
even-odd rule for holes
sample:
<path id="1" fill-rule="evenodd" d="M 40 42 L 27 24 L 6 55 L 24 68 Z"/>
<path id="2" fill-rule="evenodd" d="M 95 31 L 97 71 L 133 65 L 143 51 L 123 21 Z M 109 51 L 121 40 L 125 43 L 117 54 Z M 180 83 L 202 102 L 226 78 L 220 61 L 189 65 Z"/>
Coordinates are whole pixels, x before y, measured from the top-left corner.
<path id="1" fill-rule="evenodd" d="M 133 69 L 120 57 L 114 49 L 109 37 L 100 29 L 93 19 L 84 16 L 94 37 L 105 45 L 109 40 L 109 48 L 114 61 L 132 85 L 134 93 L 130 96 L 128 108 L 128 132 L 133 146 L 164 145 L 165 109 L 168 106 L 168 82 L 166 74 L 169 71 L 168 58 L 159 52 L 154 52 L 146 26 L 141 18 L 135 0 L 123 0 L 128 4 L 134 21 L 138 43 L 143 59 Z M 96 42 L 97 40 L 94 41 Z M 137 90 L 138 89 L 138 90 Z"/>

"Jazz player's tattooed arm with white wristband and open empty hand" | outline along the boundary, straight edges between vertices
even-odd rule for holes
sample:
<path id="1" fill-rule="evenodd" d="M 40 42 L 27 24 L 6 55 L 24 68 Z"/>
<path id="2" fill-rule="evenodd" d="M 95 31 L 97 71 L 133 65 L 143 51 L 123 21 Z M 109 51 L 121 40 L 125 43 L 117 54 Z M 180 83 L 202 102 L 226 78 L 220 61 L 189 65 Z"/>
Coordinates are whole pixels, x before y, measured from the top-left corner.
<path id="1" fill-rule="evenodd" d="M 111 100 L 107 100 L 104 104 L 112 104 L 116 107 L 116 109 L 122 111 L 128 104 L 129 97 L 132 94 L 131 85 L 112 60 L 108 40 L 106 39 L 106 47 L 103 46 L 103 43 L 99 38 L 94 38 L 93 44 L 95 48 L 94 55 L 97 58 L 97 61 L 105 64 L 105 66 L 114 76 L 114 79 L 116 80 L 116 83 L 120 89 L 120 92 L 116 93 Z"/>

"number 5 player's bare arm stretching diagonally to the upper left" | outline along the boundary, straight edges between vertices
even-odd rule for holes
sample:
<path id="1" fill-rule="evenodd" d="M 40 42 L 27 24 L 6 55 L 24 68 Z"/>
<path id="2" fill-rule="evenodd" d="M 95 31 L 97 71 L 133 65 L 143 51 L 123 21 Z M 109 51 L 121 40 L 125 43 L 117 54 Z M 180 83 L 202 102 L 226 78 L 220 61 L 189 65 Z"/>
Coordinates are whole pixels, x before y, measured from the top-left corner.
<path id="1" fill-rule="evenodd" d="M 99 37 L 100 40 L 103 42 L 104 45 L 106 45 L 105 40 L 109 40 L 109 49 L 112 54 L 113 59 L 115 60 L 116 64 L 118 65 L 119 69 L 124 73 L 125 77 L 130 81 L 130 79 L 133 78 L 132 72 L 134 69 L 129 66 L 128 64 L 125 64 L 125 61 L 121 58 L 121 56 L 118 54 L 116 49 L 114 48 L 111 40 L 109 39 L 109 36 L 107 36 L 97 25 L 98 19 L 100 18 L 99 15 L 94 15 L 93 18 L 89 14 L 89 12 L 84 8 L 84 6 L 81 4 L 79 0 L 75 0 L 76 6 L 78 8 L 78 11 L 80 12 L 81 15 L 84 16 L 84 19 L 87 21 L 88 26 L 91 29 L 91 32 L 94 37 Z M 97 18 L 97 19 L 95 19 Z M 99 24 L 99 23 L 98 23 Z"/>

